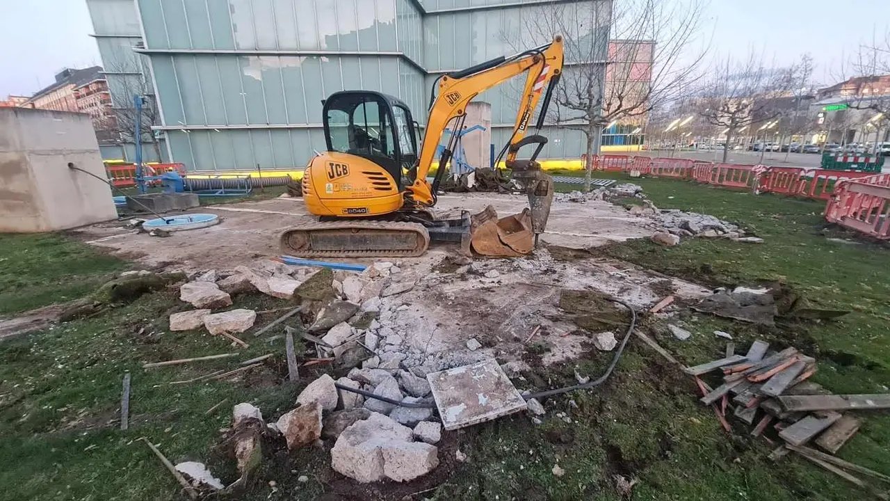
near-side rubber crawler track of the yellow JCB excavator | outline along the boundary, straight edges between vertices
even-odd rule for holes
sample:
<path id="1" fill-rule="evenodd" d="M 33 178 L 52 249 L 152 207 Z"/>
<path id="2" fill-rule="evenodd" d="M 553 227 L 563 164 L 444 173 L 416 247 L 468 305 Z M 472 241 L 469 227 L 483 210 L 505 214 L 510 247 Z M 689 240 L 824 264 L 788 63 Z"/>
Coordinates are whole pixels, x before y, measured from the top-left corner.
<path id="1" fill-rule="evenodd" d="M 369 249 L 353 249 L 353 250 L 295 250 L 288 244 L 288 237 L 295 233 L 312 233 L 316 230 L 344 230 L 353 229 L 379 229 L 379 230 L 400 230 L 410 233 L 416 233 L 421 236 L 422 245 L 413 250 L 369 250 Z M 422 256 L 426 249 L 430 246 L 430 235 L 426 228 L 418 223 L 403 223 L 391 221 L 353 221 L 353 222 L 329 222 L 329 223 L 306 223 L 301 226 L 288 228 L 281 233 L 279 238 L 281 252 L 288 256 L 298 258 L 376 258 L 376 257 L 397 257 L 397 258 L 413 258 Z"/>

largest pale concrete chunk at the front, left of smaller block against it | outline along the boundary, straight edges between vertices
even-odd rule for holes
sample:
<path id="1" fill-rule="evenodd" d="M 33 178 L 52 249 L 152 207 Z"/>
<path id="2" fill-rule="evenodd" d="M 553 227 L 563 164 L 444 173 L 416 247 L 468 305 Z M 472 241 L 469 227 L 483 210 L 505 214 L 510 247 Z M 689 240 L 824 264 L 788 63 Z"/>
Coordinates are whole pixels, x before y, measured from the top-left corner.
<path id="1" fill-rule="evenodd" d="M 331 467 L 360 482 L 383 480 L 381 448 L 394 442 L 409 442 L 412 431 L 385 415 L 372 413 L 368 419 L 347 427 L 331 449 Z"/>

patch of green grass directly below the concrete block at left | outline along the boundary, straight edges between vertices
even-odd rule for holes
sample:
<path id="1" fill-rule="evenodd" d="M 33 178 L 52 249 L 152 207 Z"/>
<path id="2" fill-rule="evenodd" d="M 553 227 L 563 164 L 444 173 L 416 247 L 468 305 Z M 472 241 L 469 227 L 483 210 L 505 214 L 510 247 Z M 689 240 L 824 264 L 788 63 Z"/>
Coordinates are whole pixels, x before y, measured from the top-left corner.
<path id="1" fill-rule="evenodd" d="M 0 234 L 0 315 L 77 299 L 127 266 L 61 234 Z"/>

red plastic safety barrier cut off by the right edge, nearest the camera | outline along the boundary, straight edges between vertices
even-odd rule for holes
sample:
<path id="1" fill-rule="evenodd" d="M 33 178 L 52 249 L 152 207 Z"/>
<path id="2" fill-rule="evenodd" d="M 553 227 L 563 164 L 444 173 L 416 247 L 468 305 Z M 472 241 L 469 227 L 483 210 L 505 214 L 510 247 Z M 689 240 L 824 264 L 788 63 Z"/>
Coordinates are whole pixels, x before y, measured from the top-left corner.
<path id="1" fill-rule="evenodd" d="M 890 175 L 838 182 L 825 208 L 831 223 L 890 240 Z"/>

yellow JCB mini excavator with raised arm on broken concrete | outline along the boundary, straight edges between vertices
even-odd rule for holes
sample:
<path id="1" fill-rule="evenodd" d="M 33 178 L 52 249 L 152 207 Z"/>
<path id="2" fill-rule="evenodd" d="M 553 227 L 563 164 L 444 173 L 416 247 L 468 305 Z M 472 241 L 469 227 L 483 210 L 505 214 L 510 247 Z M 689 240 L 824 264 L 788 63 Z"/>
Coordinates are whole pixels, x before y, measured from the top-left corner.
<path id="1" fill-rule="evenodd" d="M 466 105 L 481 92 L 528 73 L 513 134 L 504 145 L 506 167 L 529 197 L 522 214 L 498 220 L 491 207 L 460 218 L 437 218 L 431 210 L 456 136 L 441 152 L 433 182 L 427 174 L 446 127 L 461 130 Z M 498 57 L 442 75 L 433 89 L 423 141 L 408 106 L 373 91 L 343 91 L 324 101 L 328 151 L 310 160 L 303 174 L 306 207 L 319 222 L 281 234 L 285 254 L 301 257 L 419 256 L 430 240 L 459 242 L 462 250 L 487 256 L 520 256 L 534 249 L 544 232 L 553 201 L 553 180 L 535 159 L 546 137 L 526 135 L 542 94 L 539 131 L 547 104 L 562 73 L 562 37 L 510 57 Z M 546 88 L 546 91 L 544 90 Z M 530 160 L 517 160 L 522 146 L 537 145 Z"/>

